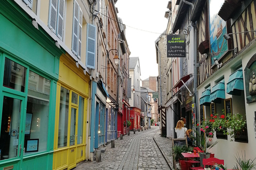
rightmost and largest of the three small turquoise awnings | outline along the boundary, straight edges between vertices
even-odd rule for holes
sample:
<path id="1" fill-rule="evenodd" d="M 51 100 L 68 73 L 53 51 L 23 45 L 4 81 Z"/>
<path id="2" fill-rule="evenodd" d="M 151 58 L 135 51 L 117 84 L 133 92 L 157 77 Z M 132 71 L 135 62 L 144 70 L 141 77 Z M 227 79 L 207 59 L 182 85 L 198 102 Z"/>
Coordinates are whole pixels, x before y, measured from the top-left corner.
<path id="1" fill-rule="evenodd" d="M 227 94 L 240 96 L 241 90 L 244 90 L 242 68 L 229 75 L 227 83 Z"/>

